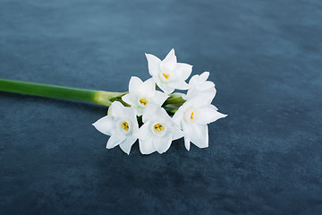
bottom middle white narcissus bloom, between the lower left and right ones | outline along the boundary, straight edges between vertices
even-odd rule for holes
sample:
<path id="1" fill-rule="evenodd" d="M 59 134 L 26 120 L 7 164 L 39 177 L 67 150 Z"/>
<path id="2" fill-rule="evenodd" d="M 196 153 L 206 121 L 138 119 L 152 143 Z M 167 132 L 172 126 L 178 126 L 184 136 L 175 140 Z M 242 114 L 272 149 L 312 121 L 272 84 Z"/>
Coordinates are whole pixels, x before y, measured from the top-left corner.
<path id="1" fill-rule="evenodd" d="M 143 125 L 138 138 L 142 154 L 164 153 L 170 148 L 171 142 L 183 136 L 179 126 L 174 124 L 165 109 L 156 105 L 147 107 L 143 115 Z"/>

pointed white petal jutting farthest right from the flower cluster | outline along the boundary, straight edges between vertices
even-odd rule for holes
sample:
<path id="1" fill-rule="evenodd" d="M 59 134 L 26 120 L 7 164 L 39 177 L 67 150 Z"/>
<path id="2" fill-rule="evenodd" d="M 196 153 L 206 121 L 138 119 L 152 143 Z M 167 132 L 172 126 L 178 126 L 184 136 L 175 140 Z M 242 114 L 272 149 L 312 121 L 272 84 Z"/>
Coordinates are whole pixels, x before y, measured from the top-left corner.
<path id="1" fill-rule="evenodd" d="M 198 110 L 198 123 L 199 124 L 209 124 L 215 122 L 217 119 L 223 118 L 227 115 L 219 113 L 217 108 L 213 105 L 209 107 L 202 107 Z"/>

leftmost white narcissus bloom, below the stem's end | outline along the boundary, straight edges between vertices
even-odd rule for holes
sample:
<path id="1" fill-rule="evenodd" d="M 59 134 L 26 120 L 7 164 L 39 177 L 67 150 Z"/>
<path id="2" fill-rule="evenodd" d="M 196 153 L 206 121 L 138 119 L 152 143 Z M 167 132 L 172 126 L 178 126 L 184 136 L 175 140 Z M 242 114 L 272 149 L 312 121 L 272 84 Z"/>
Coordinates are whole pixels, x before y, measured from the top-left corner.
<path id="1" fill-rule="evenodd" d="M 106 144 L 107 149 L 120 145 L 129 154 L 132 144 L 138 139 L 135 136 L 139 130 L 136 110 L 133 107 L 123 107 L 119 101 L 114 101 L 108 109 L 108 115 L 98 119 L 93 125 L 99 132 L 111 136 Z"/>

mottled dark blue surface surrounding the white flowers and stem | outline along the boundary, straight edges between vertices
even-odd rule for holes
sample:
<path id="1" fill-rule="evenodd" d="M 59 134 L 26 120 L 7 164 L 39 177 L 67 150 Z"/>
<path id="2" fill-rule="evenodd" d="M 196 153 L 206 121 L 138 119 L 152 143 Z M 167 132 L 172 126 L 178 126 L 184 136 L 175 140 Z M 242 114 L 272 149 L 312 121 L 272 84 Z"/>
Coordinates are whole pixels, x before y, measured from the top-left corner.
<path id="1" fill-rule="evenodd" d="M 125 91 L 210 71 L 209 148 L 106 150 L 106 107 L 0 93 L 0 214 L 322 214 L 320 0 L 0 0 L 0 77 Z"/>

